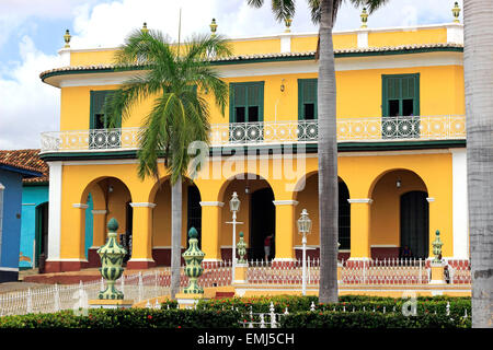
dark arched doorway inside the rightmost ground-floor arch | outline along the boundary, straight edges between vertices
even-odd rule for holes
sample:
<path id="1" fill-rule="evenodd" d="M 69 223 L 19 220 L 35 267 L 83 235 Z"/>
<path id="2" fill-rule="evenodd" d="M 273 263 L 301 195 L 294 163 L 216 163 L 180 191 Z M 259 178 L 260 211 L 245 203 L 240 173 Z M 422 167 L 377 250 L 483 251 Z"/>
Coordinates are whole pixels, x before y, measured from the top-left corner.
<path id="1" fill-rule="evenodd" d="M 401 257 L 428 257 L 429 246 L 429 208 L 428 195 L 413 190 L 401 196 Z M 409 248 L 409 254 L 405 253 Z"/>

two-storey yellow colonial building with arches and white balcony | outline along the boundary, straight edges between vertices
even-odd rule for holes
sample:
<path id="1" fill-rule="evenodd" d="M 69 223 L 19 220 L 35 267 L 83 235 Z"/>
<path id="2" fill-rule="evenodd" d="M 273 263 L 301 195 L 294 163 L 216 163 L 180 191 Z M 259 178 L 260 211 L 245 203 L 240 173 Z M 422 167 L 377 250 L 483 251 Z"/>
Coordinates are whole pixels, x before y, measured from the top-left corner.
<path id="1" fill-rule="evenodd" d="M 349 260 L 469 259 L 462 24 L 335 32 L 340 255 Z M 227 32 L 227 28 L 218 32 Z M 319 254 L 317 33 L 231 38 L 233 56 L 213 58 L 230 86 L 222 116 L 211 97 L 210 149 L 194 180 L 183 183 L 186 232 L 200 234 L 205 261 L 231 258 L 229 200 L 241 200 L 237 232 L 249 259 L 300 255 L 296 221 L 307 209 L 309 254 Z M 60 90 L 60 130 L 42 135 L 49 164 L 47 271 L 99 265 L 105 224 L 119 223 L 127 268 L 170 265 L 171 187 L 137 176 L 138 131 L 151 101 L 121 128 L 105 129 L 108 91 L 141 71 L 116 71 L 116 48 L 62 48 L 59 68 L 41 79 Z M 85 242 L 88 198 L 93 234 Z M 238 242 L 238 237 L 236 238 Z"/>

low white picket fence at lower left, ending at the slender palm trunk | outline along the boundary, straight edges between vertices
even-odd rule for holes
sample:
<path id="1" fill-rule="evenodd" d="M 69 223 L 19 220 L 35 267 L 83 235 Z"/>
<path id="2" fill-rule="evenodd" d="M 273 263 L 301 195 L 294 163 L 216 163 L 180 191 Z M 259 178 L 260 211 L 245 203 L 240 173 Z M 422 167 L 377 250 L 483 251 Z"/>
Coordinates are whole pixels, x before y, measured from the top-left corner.
<path id="1" fill-rule="evenodd" d="M 140 302 L 146 299 L 169 294 L 168 273 L 147 272 L 123 276 L 116 288 L 125 299 Z M 53 284 L 0 294 L 0 316 L 25 315 L 30 313 L 54 313 L 61 310 L 88 308 L 89 300 L 98 299 L 105 289 L 103 279 L 79 284 Z"/>

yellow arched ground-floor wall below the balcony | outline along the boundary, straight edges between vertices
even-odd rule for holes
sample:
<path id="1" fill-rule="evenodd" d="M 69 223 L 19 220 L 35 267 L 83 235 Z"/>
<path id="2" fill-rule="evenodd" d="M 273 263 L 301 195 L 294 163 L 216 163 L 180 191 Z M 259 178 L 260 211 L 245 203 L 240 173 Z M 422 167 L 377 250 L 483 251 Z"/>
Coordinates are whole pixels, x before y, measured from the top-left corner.
<path id="1" fill-rule="evenodd" d="M 296 220 L 299 218 L 300 210 L 307 208 L 312 218 L 313 230 L 309 237 L 309 245 L 318 244 L 318 219 L 317 219 L 317 183 L 316 176 L 309 176 L 307 185 L 300 192 L 286 189 L 286 182 L 283 179 L 273 178 L 272 168 L 273 161 L 268 161 L 271 171 L 252 170 L 248 166 L 241 172 L 249 172 L 254 174 L 263 174 L 266 180 L 250 180 L 251 192 L 256 189 L 264 188 L 267 185 L 271 186 L 274 192 L 275 200 L 298 200 L 299 205 L 294 208 L 293 215 L 286 211 L 291 206 L 277 206 L 276 207 L 276 253 L 284 252 L 282 254 L 290 254 L 291 256 L 280 256 L 283 258 L 289 258 L 294 256 L 294 245 L 299 245 L 299 235 L 296 230 Z M 318 160 L 314 156 L 310 156 L 306 160 L 306 170 L 302 174 L 298 174 L 297 178 L 300 182 L 306 174 L 312 174 L 318 168 Z M 364 172 L 362 170 L 365 170 Z M 403 172 L 406 170 L 409 172 Z M 416 175 L 411 175 L 410 172 Z M 237 172 L 239 174 L 239 172 Z M 451 184 L 451 154 L 450 153 L 436 153 L 436 154 L 379 154 L 379 155 L 358 155 L 347 156 L 347 154 L 341 154 L 339 158 L 339 174 L 345 182 L 351 198 L 371 198 L 374 203 L 370 207 L 370 226 L 369 226 L 369 244 L 382 244 L 382 245 L 399 245 L 399 213 L 395 199 L 399 198 L 400 192 L 404 192 L 411 189 L 424 189 L 426 188 L 428 197 L 435 198 L 435 201 L 429 205 L 429 234 L 431 240 L 434 240 L 434 233 L 436 230 L 442 232 L 442 241 L 444 242 L 443 255 L 444 257 L 452 256 L 452 184 Z M 386 175 L 388 174 L 388 175 Z M 121 165 L 65 165 L 64 166 L 64 183 L 62 183 L 62 198 L 61 198 L 61 257 L 74 258 L 82 256 L 80 246 L 83 244 L 77 243 L 77 232 L 83 231 L 83 221 L 79 218 L 81 210 L 73 208 L 73 203 L 81 202 L 81 198 L 87 196 L 94 180 L 100 180 L 105 176 L 114 176 L 122 180 L 128 188 L 128 191 L 115 183 L 115 202 L 112 200 L 108 205 L 110 213 L 107 219 L 114 214 L 122 222 L 122 230 L 124 231 L 124 203 L 131 196 L 133 202 L 148 202 L 151 198 L 157 201 L 158 207 L 152 210 L 152 214 L 149 217 L 151 223 L 136 222 L 136 215 L 134 215 L 134 242 L 138 245 L 139 235 L 145 234 L 146 228 L 151 228 L 152 240 L 149 241 L 150 246 L 169 246 L 170 245 L 170 201 L 169 190 L 164 189 L 162 194 L 158 191 L 154 198 L 152 191 L 154 190 L 156 183 L 152 178 L 140 180 L 136 176 L 136 164 L 121 164 Z M 401 177 L 403 187 L 400 191 L 395 191 L 395 176 Z M 221 201 L 225 203 L 220 209 L 220 214 L 217 219 L 213 217 L 203 217 L 203 248 L 208 254 L 215 255 L 217 253 L 211 252 L 211 247 L 215 246 L 230 246 L 231 245 L 231 225 L 226 224 L 231 220 L 231 213 L 229 211 L 229 199 L 233 190 L 240 196 L 242 206 L 239 212 L 238 220 L 244 222 L 240 225 L 238 232 L 243 231 L 245 234 L 245 241 L 249 242 L 250 237 L 250 203 L 244 194 L 244 180 L 229 182 L 230 174 L 221 176 L 218 179 L 207 180 L 197 178 L 195 184 L 197 185 L 200 198 L 203 201 Z M 101 182 L 101 180 L 100 180 Z M 354 206 L 354 205 L 352 205 Z M 159 208 L 159 209 L 157 209 Z M 204 207 L 205 208 L 205 207 Z M 203 208 L 203 212 L 204 212 Z M 291 207 L 293 208 L 293 207 Z M 136 209 L 134 208 L 134 211 Z M 138 209 L 142 210 L 142 209 Z M 186 191 L 184 190 L 184 203 L 183 203 L 183 236 L 182 242 L 185 242 L 186 237 Z M 287 214 L 288 217 L 283 217 Z M 353 215 L 353 211 L 352 211 Z M 153 219 L 152 219 L 153 217 Z M 278 220 L 277 220 L 278 219 Z M 357 218 L 354 218 L 357 219 Z M 145 219 L 142 219 L 145 220 Z M 210 240 L 208 236 L 208 229 L 211 221 L 216 222 L 219 228 L 218 242 L 206 242 Z M 353 225 L 353 218 L 352 218 Z M 363 229 L 362 229 L 363 228 Z M 355 244 L 356 247 L 360 246 L 362 242 L 354 240 L 354 235 L 359 234 L 357 230 L 364 230 L 364 226 L 352 228 L 352 249 Z M 119 232 L 121 230 L 118 230 Z M 153 231 L 153 233 L 152 233 Z M 79 238 L 83 234 L 79 235 Z M 144 249 L 144 248 L 142 248 Z M 213 249 L 214 250 L 214 249 Z M 363 249 L 364 250 L 364 249 Z M 79 253 L 78 253 L 79 252 Z M 144 250 L 142 250 L 144 252 Z M 139 254 L 146 255 L 140 252 Z M 287 253 L 286 253 L 287 252 Z M 140 256 L 141 257 L 141 256 Z M 215 257 L 216 258 L 216 257 Z"/>

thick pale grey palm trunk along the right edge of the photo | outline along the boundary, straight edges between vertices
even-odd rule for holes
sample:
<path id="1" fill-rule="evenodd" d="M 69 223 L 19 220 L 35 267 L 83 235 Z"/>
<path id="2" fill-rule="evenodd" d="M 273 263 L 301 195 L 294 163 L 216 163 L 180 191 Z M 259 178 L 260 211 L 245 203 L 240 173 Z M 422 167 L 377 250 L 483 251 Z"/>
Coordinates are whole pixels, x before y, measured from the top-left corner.
<path id="1" fill-rule="evenodd" d="M 493 327 L 493 2 L 465 0 L 472 326 Z"/>

